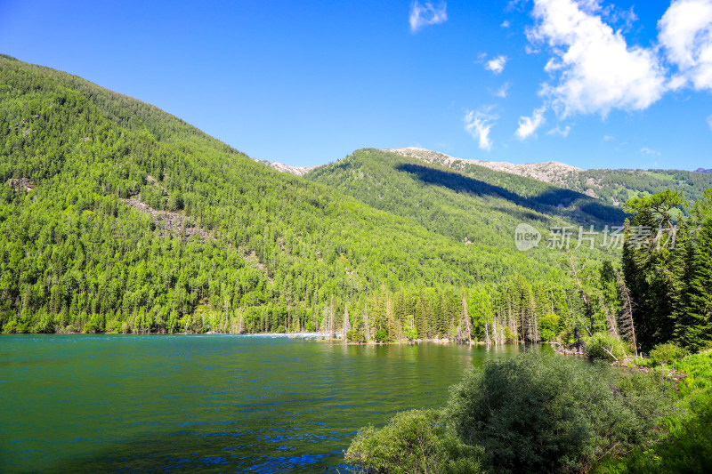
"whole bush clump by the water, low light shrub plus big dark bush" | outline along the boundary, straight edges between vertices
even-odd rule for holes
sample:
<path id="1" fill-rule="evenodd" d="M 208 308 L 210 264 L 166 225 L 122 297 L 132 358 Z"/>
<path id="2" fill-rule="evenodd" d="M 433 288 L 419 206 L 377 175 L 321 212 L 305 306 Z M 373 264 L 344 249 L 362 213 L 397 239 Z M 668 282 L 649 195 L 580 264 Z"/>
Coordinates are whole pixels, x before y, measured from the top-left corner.
<path id="1" fill-rule="evenodd" d="M 425 472 L 418 460 L 455 469 L 470 456 L 497 472 L 590 470 L 659 436 L 674 390 L 655 377 L 539 352 L 490 361 L 451 389 L 440 415 L 399 414 L 382 430 L 361 431 L 347 462 Z"/>

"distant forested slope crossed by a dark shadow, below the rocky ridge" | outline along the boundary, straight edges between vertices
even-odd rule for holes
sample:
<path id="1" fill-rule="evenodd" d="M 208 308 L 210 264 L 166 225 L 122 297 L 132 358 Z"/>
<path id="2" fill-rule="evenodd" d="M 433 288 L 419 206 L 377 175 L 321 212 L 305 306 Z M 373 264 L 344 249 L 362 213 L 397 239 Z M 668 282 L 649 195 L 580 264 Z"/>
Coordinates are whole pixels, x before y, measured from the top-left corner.
<path id="1" fill-rule="evenodd" d="M 358 150 L 305 177 L 378 209 L 413 216 L 426 229 L 478 246 L 506 246 L 521 222 L 546 235 L 546 229 L 554 226 L 603 229 L 625 220 L 619 208 L 532 178 L 481 166 L 465 174 L 378 149 Z M 543 256 L 541 251 L 532 253 Z"/>

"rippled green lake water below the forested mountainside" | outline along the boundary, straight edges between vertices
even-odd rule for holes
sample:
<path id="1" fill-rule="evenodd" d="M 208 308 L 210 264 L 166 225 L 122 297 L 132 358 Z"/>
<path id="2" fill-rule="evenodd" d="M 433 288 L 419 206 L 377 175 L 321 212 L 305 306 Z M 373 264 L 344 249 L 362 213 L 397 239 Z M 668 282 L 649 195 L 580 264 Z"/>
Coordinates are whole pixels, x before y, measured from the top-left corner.
<path id="1" fill-rule="evenodd" d="M 356 431 L 442 406 L 519 346 L 0 336 L 0 471 L 344 472 Z"/>

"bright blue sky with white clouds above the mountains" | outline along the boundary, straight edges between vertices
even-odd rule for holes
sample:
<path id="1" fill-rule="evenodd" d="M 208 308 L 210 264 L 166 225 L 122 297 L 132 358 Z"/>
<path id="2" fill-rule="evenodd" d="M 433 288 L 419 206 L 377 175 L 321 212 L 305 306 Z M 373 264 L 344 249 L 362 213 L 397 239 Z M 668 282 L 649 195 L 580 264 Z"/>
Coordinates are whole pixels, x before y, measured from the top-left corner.
<path id="1" fill-rule="evenodd" d="M 712 168 L 712 0 L 0 3 L 0 52 L 251 157 Z"/>

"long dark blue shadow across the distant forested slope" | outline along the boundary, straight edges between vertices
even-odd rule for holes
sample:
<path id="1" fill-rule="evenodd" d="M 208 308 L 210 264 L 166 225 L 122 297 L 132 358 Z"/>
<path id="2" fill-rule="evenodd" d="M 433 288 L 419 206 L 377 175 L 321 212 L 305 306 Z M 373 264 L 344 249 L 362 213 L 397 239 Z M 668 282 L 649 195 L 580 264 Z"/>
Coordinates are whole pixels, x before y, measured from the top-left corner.
<path id="1" fill-rule="evenodd" d="M 481 197 L 500 197 L 515 205 L 521 205 L 532 211 L 547 215 L 566 215 L 579 220 L 590 221 L 593 219 L 616 225 L 621 225 L 626 218 L 626 213 L 619 208 L 606 205 L 593 197 L 588 197 L 570 189 L 550 186 L 549 189 L 538 196 L 523 197 L 509 189 L 485 181 L 475 180 L 460 173 L 414 164 L 397 165 L 396 169 L 414 174 L 417 179 L 427 184 L 444 186 L 458 193 L 468 193 Z M 566 209 L 572 205 L 579 211 Z"/>

